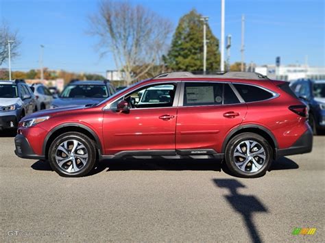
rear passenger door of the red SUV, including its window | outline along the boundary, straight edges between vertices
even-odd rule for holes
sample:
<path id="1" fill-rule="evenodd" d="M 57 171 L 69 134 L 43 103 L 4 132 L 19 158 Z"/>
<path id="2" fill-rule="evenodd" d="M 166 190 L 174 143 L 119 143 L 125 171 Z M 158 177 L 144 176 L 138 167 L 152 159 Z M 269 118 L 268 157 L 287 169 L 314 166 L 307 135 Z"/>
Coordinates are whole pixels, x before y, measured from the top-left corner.
<path id="1" fill-rule="evenodd" d="M 245 118 L 247 105 L 241 103 L 231 84 L 183 82 L 176 123 L 176 151 L 220 153 L 226 134 Z"/>

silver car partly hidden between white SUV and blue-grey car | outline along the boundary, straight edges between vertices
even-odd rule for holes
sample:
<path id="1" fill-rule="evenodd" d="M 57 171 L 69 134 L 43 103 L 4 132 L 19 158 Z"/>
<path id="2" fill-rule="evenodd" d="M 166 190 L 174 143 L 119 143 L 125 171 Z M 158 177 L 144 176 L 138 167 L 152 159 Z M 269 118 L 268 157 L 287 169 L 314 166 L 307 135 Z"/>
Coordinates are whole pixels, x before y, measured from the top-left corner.
<path id="1" fill-rule="evenodd" d="M 36 97 L 36 111 L 45 110 L 51 107 L 53 95 L 43 84 L 32 84 L 29 88 L 34 92 Z"/>

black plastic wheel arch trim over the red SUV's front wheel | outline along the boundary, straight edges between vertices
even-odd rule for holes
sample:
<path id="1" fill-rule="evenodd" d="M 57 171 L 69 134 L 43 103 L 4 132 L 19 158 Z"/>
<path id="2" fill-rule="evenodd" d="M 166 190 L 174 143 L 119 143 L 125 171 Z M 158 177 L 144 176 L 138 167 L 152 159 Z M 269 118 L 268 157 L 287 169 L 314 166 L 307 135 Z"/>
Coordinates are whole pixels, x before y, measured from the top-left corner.
<path id="1" fill-rule="evenodd" d="M 93 129 L 87 127 L 86 125 L 82 125 L 80 123 L 64 123 L 58 125 L 58 127 L 53 128 L 47 134 L 42 149 L 43 155 L 45 155 L 46 159 L 48 157 L 49 146 L 51 146 L 53 140 L 55 140 L 60 134 L 68 131 L 77 131 L 88 136 L 88 138 L 91 138 L 91 140 L 95 142 L 95 146 L 97 150 L 96 152 L 99 153 L 99 155 L 101 155 L 102 153 L 101 142 L 97 134 L 95 133 L 95 131 L 93 131 Z"/>

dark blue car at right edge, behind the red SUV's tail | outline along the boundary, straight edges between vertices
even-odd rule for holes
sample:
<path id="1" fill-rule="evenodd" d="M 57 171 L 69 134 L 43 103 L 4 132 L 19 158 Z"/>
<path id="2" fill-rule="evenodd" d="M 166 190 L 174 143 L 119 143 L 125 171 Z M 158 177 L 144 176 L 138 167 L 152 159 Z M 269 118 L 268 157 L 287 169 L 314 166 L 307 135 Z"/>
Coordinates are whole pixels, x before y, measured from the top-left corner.
<path id="1" fill-rule="evenodd" d="M 313 134 L 325 131 L 325 80 L 298 79 L 290 88 L 309 107 L 309 124 Z"/>

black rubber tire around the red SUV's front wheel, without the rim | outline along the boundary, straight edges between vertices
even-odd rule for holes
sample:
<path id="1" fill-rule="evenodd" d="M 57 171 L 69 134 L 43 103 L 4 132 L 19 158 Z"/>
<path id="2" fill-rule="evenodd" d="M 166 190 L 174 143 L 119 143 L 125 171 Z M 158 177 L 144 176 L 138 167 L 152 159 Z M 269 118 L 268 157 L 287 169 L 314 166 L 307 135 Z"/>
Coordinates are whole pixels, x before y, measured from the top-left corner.
<path id="1" fill-rule="evenodd" d="M 79 142 L 82 142 L 88 151 L 88 161 L 86 166 L 77 172 L 69 173 L 60 168 L 56 162 L 56 149 L 58 146 L 60 146 L 60 144 L 62 144 L 62 142 L 66 140 L 77 140 Z M 83 177 L 91 171 L 95 164 L 95 146 L 89 138 L 81 133 L 64 133 L 53 140 L 51 146 L 49 147 L 49 164 L 54 171 L 63 177 Z"/>

